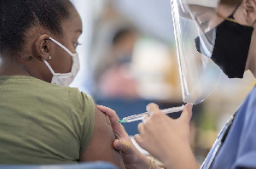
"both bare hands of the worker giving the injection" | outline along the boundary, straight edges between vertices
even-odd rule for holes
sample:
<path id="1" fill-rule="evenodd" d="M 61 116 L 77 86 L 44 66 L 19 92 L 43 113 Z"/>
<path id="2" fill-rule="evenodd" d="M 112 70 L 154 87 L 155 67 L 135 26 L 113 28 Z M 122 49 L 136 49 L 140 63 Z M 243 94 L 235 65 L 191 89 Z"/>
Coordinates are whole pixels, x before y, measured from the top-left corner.
<path id="1" fill-rule="evenodd" d="M 119 117 L 114 110 L 102 105 L 97 105 L 97 108 L 108 115 L 111 122 L 119 121 Z M 189 147 L 189 121 L 192 116 L 192 105 L 186 105 L 179 120 L 172 120 L 163 114 L 156 104 L 148 104 L 147 111 L 150 116 L 146 116 L 143 123 L 138 126 L 140 134 L 135 135 L 137 143 L 155 158 L 162 161 L 165 168 L 199 168 Z M 176 122 L 173 123 L 173 121 Z M 159 125 L 155 125 L 156 123 Z M 172 127 L 169 126 L 171 123 L 173 123 Z M 122 152 L 126 168 L 149 168 L 150 162 L 132 144 L 131 138 L 125 132 L 125 128 L 120 123 L 113 123 L 112 127 L 113 132 L 118 136 L 118 139 L 113 142 L 113 147 Z M 177 130 L 173 128 L 177 128 Z M 179 137 L 174 136 L 177 132 L 173 131 L 178 131 Z M 173 137 L 176 139 L 172 139 Z M 126 143 L 129 145 L 128 149 L 125 148 Z M 173 144 L 175 144 L 175 149 L 172 148 Z M 188 146 L 184 147 L 186 144 Z M 173 149 L 173 151 L 170 149 Z M 171 156 L 172 161 L 170 161 Z M 188 163 L 181 162 L 176 165 L 177 161 L 187 159 L 191 160 Z"/>

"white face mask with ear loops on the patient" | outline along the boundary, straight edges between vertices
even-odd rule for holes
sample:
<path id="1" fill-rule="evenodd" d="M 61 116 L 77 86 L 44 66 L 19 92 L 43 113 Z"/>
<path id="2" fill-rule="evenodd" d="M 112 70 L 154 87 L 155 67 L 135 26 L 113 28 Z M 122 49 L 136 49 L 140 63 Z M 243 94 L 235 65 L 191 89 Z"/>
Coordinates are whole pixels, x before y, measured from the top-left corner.
<path id="1" fill-rule="evenodd" d="M 60 42 L 57 42 L 52 37 L 49 37 L 49 39 L 52 42 L 55 42 L 61 48 L 63 48 L 68 54 L 70 54 L 70 56 L 73 59 L 72 69 L 71 69 L 71 72 L 69 73 L 55 73 L 55 71 L 51 68 L 49 63 L 45 59 L 43 59 L 44 63 L 47 65 L 47 67 L 49 68 L 50 72 L 53 75 L 51 79 L 51 83 L 60 85 L 62 87 L 68 87 L 79 73 L 79 70 L 80 70 L 79 54 L 78 53 L 72 54 L 72 52 L 70 52 L 70 50 L 64 47 Z"/>

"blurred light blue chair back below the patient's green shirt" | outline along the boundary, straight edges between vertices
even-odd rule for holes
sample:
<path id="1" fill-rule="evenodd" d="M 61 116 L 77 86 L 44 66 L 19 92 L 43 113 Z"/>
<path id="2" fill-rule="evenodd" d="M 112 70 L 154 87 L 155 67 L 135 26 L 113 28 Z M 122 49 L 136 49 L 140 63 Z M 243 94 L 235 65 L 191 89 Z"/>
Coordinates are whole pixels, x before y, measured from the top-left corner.
<path id="1" fill-rule="evenodd" d="M 1 165 L 0 169 L 117 169 L 111 163 L 105 161 L 81 162 L 77 164 L 60 165 Z"/>

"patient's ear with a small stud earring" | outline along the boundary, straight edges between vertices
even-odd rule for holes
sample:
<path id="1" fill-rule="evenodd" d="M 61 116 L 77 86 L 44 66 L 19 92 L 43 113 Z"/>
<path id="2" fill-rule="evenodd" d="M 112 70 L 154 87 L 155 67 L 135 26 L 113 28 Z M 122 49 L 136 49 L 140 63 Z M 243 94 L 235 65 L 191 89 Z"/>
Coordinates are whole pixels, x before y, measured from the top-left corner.
<path id="1" fill-rule="evenodd" d="M 36 42 L 37 54 L 45 60 L 49 58 L 49 41 L 49 36 L 44 34 Z"/>

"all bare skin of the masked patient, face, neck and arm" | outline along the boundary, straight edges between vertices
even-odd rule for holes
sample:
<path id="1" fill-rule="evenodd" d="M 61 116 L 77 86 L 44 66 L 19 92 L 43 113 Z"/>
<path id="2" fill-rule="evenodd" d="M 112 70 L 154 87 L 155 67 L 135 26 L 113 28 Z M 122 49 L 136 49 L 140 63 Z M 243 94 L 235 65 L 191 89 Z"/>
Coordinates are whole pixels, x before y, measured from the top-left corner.
<path id="1" fill-rule="evenodd" d="M 78 38 L 82 33 L 82 21 L 74 8 L 70 10 L 70 19 L 64 20 L 61 24 L 63 28 L 61 37 L 56 37 L 40 26 L 33 26 L 27 31 L 26 42 L 19 55 L 3 54 L 0 58 L 0 76 L 33 76 L 44 82 L 51 82 L 52 74 L 43 59 L 49 62 L 55 73 L 70 72 L 72 57 L 55 42 L 49 40 L 49 37 L 53 37 L 72 53 L 76 52 Z M 48 59 L 49 56 L 52 59 Z M 114 140 L 115 136 L 107 116 L 95 107 L 93 136 L 88 147 L 80 155 L 80 161 L 109 161 L 119 168 L 125 168 L 119 151 L 113 149 Z"/>

